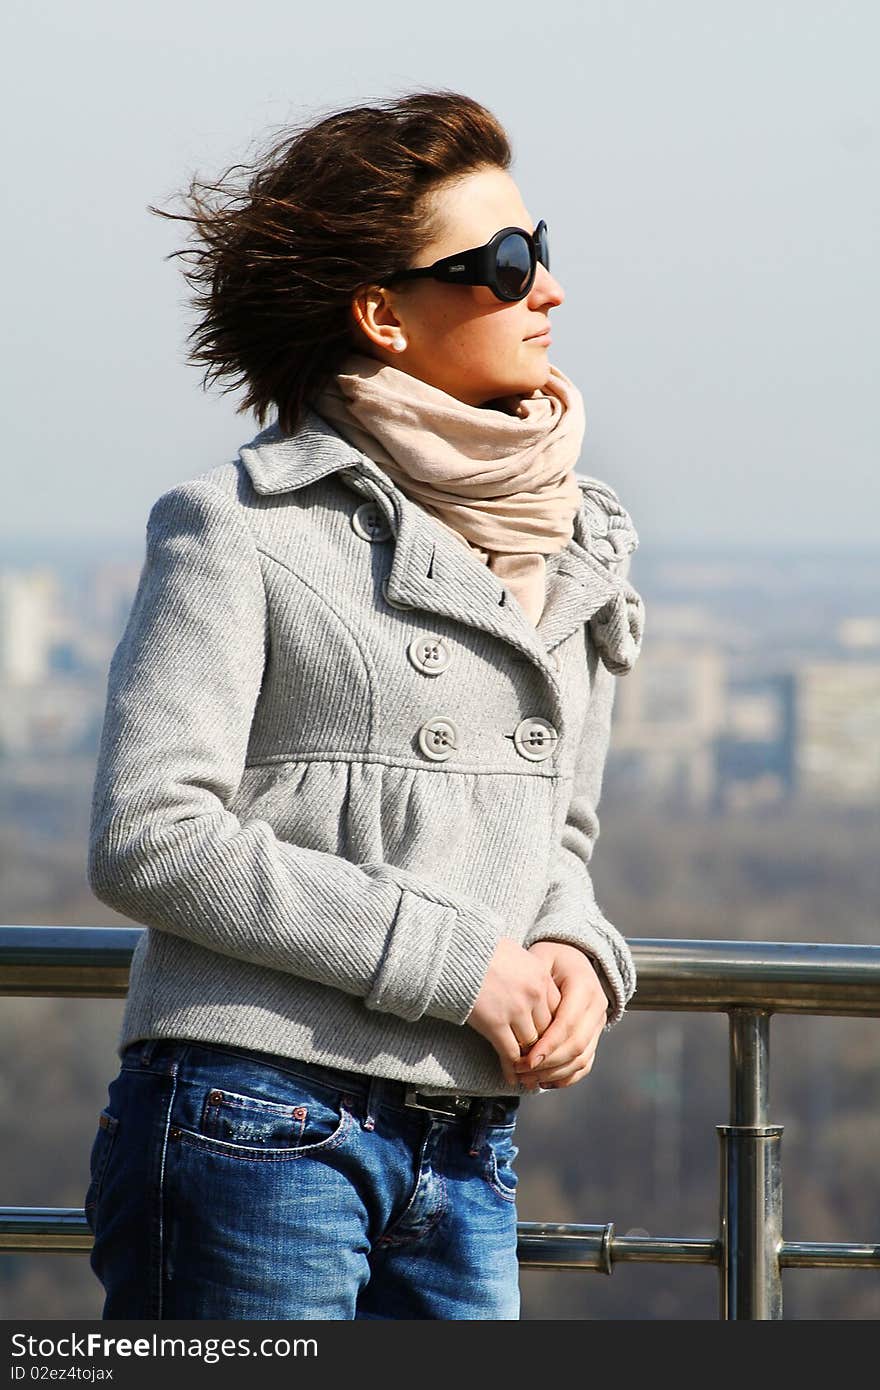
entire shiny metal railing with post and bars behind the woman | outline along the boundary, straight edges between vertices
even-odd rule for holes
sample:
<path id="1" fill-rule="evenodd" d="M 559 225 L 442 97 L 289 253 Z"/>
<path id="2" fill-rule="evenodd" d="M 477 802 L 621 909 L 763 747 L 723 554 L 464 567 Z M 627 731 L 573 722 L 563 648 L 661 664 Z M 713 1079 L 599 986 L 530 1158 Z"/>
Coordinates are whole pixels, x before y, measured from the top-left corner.
<path id="1" fill-rule="evenodd" d="M 0 927 L 0 994 L 124 998 L 140 927 Z M 773 1013 L 880 1015 L 880 947 L 631 938 L 631 1009 L 727 1013 L 730 1120 L 720 1140 L 713 1238 L 616 1236 L 603 1226 L 519 1223 L 528 1269 L 626 1261 L 715 1265 L 724 1319 L 783 1316 L 784 1268 L 879 1269 L 880 1244 L 783 1240 L 783 1126 L 767 1115 Z M 79 1208 L 0 1207 L 0 1251 L 88 1251 Z"/>

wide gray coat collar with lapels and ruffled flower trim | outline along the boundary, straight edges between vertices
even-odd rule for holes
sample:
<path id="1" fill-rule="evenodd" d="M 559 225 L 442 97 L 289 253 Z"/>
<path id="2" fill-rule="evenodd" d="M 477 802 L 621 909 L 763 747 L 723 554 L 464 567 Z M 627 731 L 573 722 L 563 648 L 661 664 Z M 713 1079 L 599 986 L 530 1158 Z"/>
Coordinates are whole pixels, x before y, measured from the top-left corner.
<path id="1" fill-rule="evenodd" d="M 284 435 L 278 424 L 241 450 L 256 492 L 270 496 L 304 488 L 331 473 L 382 509 L 395 535 L 388 575 L 392 600 L 442 613 L 512 642 L 557 684 L 551 652 L 589 623 L 599 655 L 624 674 L 641 651 L 644 603 L 626 578 L 635 528 L 617 495 L 598 478 L 578 477 L 581 507 L 567 548 L 548 566 L 548 599 L 535 627 L 492 571 L 468 555 L 445 527 L 412 502 L 378 464 L 350 445 L 317 411 Z"/>

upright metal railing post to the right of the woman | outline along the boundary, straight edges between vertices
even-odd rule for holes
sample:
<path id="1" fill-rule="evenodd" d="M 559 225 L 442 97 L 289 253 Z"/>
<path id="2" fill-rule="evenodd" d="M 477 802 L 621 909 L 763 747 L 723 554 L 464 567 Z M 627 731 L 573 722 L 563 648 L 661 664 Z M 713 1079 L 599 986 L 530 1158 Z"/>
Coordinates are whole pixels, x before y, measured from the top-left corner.
<path id="1" fill-rule="evenodd" d="M 730 1125 L 722 1144 L 720 1316 L 781 1318 L 781 1125 L 767 1125 L 770 1012 L 728 1011 Z"/>

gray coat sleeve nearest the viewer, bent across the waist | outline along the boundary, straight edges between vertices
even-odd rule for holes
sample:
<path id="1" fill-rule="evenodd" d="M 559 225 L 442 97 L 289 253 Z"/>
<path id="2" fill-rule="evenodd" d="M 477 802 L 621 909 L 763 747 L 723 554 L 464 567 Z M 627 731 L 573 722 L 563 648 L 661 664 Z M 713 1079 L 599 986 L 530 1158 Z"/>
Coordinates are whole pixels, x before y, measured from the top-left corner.
<path id="1" fill-rule="evenodd" d="M 385 863 L 238 819 L 267 652 L 260 557 L 241 509 L 196 480 L 153 506 L 110 662 L 88 877 L 101 902 L 211 951 L 416 1020 L 464 1023 L 503 919 Z"/>

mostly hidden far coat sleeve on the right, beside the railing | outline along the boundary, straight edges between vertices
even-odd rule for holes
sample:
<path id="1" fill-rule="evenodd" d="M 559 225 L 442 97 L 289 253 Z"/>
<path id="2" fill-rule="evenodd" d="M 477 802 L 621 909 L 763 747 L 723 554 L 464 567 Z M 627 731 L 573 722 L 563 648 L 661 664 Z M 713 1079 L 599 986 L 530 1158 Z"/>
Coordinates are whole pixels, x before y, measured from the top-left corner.
<path id="1" fill-rule="evenodd" d="M 599 837 L 596 806 L 602 790 L 610 739 L 617 677 L 596 663 L 562 838 L 555 847 L 551 884 L 541 912 L 525 935 L 535 941 L 563 941 L 591 956 L 609 998 L 606 1031 L 619 1023 L 635 992 L 635 966 L 630 948 L 601 910 L 589 862 Z"/>

